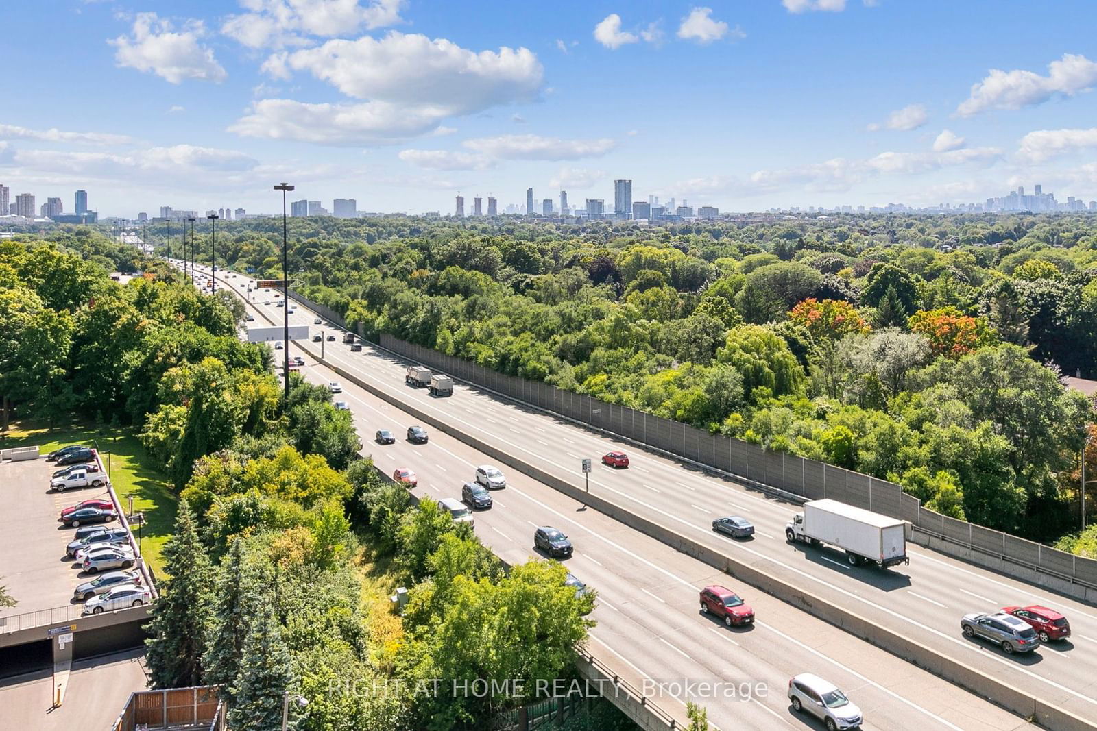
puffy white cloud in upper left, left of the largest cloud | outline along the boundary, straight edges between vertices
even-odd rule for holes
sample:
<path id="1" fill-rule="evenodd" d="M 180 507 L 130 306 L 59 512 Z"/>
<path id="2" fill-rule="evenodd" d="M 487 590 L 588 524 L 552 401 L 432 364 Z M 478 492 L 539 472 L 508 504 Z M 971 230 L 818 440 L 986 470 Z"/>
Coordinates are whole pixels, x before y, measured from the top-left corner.
<path id="1" fill-rule="evenodd" d="M 117 49 L 114 60 L 121 67 L 151 71 L 171 83 L 186 79 L 220 83 L 228 75 L 213 50 L 199 43 L 203 35 L 205 27 L 200 21 L 188 21 L 182 31 L 176 31 L 156 13 L 138 13 L 133 37 L 120 35 L 108 43 Z"/>

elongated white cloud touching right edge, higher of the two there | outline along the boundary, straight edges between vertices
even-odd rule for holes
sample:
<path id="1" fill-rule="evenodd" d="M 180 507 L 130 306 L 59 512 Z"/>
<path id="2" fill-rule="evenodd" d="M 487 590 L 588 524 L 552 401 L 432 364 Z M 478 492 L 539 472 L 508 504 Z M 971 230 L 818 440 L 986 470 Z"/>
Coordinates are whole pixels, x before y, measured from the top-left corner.
<path id="1" fill-rule="evenodd" d="M 957 107 L 970 117 L 989 108 L 1019 110 L 1041 104 L 1056 94 L 1073 96 L 1097 84 L 1097 64 L 1078 54 L 1063 54 L 1048 65 L 1048 76 L 1014 69 L 991 69 L 985 79 L 971 87 L 971 96 Z"/>

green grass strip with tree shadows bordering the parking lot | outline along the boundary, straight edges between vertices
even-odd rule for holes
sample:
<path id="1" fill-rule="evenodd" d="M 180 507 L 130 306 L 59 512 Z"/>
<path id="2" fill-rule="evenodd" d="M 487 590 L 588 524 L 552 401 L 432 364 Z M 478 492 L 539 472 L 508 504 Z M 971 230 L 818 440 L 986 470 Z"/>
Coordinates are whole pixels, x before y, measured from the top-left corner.
<path id="1" fill-rule="evenodd" d="M 145 514 L 145 525 L 134 527 L 140 536 L 140 550 L 157 576 L 163 575 L 160 550 L 176 525 L 176 506 L 179 499 L 171 489 L 168 477 L 145 454 L 145 447 L 132 430 L 91 424 L 71 423 L 53 429 L 31 420 L 14 422 L 8 436 L 0 438 L 3 448 L 37 446 L 42 454 L 66 444 L 98 443 L 103 466 L 110 470 L 114 491 L 127 510 L 127 498 L 133 495 L 134 511 Z M 79 493 L 72 502 L 79 502 Z"/>

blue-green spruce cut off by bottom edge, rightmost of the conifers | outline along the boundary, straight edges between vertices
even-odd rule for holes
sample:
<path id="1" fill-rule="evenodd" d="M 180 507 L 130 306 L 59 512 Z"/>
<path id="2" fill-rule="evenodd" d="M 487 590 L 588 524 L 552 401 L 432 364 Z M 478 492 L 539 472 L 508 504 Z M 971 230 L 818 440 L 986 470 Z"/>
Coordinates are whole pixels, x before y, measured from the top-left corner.
<path id="1" fill-rule="evenodd" d="M 244 641 L 240 674 L 231 690 L 236 704 L 229 710 L 229 728 L 233 731 L 279 731 L 282 699 L 292 682 L 290 651 L 282 639 L 282 627 L 274 616 L 273 604 L 260 594 Z"/>

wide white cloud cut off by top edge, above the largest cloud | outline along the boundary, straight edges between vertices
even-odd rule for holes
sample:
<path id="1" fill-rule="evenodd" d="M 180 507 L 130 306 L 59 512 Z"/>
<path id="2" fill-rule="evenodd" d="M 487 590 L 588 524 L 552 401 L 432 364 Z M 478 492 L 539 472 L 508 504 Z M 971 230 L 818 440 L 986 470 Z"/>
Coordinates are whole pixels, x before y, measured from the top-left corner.
<path id="1" fill-rule="evenodd" d="M 403 22 L 405 0 L 241 0 L 251 12 L 229 15 L 222 33 L 249 48 L 309 45 L 309 36 L 349 35 Z"/>

